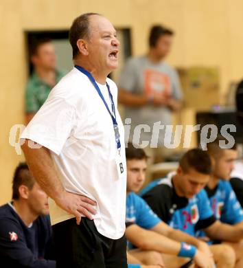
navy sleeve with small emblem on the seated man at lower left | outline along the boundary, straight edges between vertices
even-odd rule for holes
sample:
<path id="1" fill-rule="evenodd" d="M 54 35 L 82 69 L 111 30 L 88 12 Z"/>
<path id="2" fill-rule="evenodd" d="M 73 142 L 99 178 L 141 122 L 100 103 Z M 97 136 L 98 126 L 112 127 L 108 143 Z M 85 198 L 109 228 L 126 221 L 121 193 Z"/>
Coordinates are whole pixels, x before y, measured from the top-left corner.
<path id="1" fill-rule="evenodd" d="M 54 268 L 55 260 L 39 260 L 27 247 L 23 231 L 12 219 L 1 219 L 0 227 L 1 256 L 9 259 L 16 267 Z"/>

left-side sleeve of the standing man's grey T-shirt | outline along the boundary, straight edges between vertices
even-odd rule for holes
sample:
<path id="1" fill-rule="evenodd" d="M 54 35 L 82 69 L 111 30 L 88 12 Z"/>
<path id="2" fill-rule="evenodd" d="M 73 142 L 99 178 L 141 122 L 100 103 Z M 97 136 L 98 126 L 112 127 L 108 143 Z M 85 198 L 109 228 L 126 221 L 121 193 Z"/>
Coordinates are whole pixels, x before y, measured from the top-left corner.
<path id="1" fill-rule="evenodd" d="M 137 67 L 134 58 L 126 61 L 117 83 L 118 87 L 134 92 L 137 85 Z"/>

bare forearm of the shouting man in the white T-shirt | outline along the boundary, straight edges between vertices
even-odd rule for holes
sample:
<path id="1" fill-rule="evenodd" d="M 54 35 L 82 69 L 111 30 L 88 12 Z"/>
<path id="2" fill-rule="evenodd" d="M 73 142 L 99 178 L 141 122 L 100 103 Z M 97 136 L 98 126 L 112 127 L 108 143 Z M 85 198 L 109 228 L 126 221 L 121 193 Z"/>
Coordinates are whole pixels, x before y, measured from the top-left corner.
<path id="1" fill-rule="evenodd" d="M 65 189 L 58 178 L 49 149 L 43 146 L 32 149 L 28 146 L 28 142 L 26 139 L 21 148 L 34 178 L 49 197 L 52 199 L 60 197 Z"/>

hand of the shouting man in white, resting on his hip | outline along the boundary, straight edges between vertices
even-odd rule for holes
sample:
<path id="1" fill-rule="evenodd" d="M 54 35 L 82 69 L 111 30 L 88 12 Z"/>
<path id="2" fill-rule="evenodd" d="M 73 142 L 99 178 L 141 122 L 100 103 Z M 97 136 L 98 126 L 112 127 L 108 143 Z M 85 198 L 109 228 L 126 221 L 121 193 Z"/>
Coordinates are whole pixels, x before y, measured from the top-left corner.
<path id="1" fill-rule="evenodd" d="M 80 194 L 64 191 L 59 198 L 55 199 L 55 202 L 62 210 L 76 216 L 77 224 L 80 224 L 81 216 L 86 216 L 92 220 L 92 214 L 96 214 L 92 207 L 92 205 L 96 205 L 96 202 Z"/>

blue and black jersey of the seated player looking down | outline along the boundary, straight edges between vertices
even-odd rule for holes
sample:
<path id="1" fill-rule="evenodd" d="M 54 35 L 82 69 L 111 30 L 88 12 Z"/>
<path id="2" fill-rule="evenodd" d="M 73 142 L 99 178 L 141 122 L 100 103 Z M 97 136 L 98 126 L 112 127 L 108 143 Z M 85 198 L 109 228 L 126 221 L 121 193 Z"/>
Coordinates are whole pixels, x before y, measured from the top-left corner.
<path id="1" fill-rule="evenodd" d="M 153 187 L 149 184 L 143 189 L 143 199 L 165 223 L 195 236 L 196 230 L 208 227 L 216 221 L 207 193 L 201 190 L 192 199 L 178 197 L 172 182 L 173 175 L 174 173 L 170 173 L 166 178 L 153 181 Z M 149 189 L 148 192 L 146 189 Z"/>

